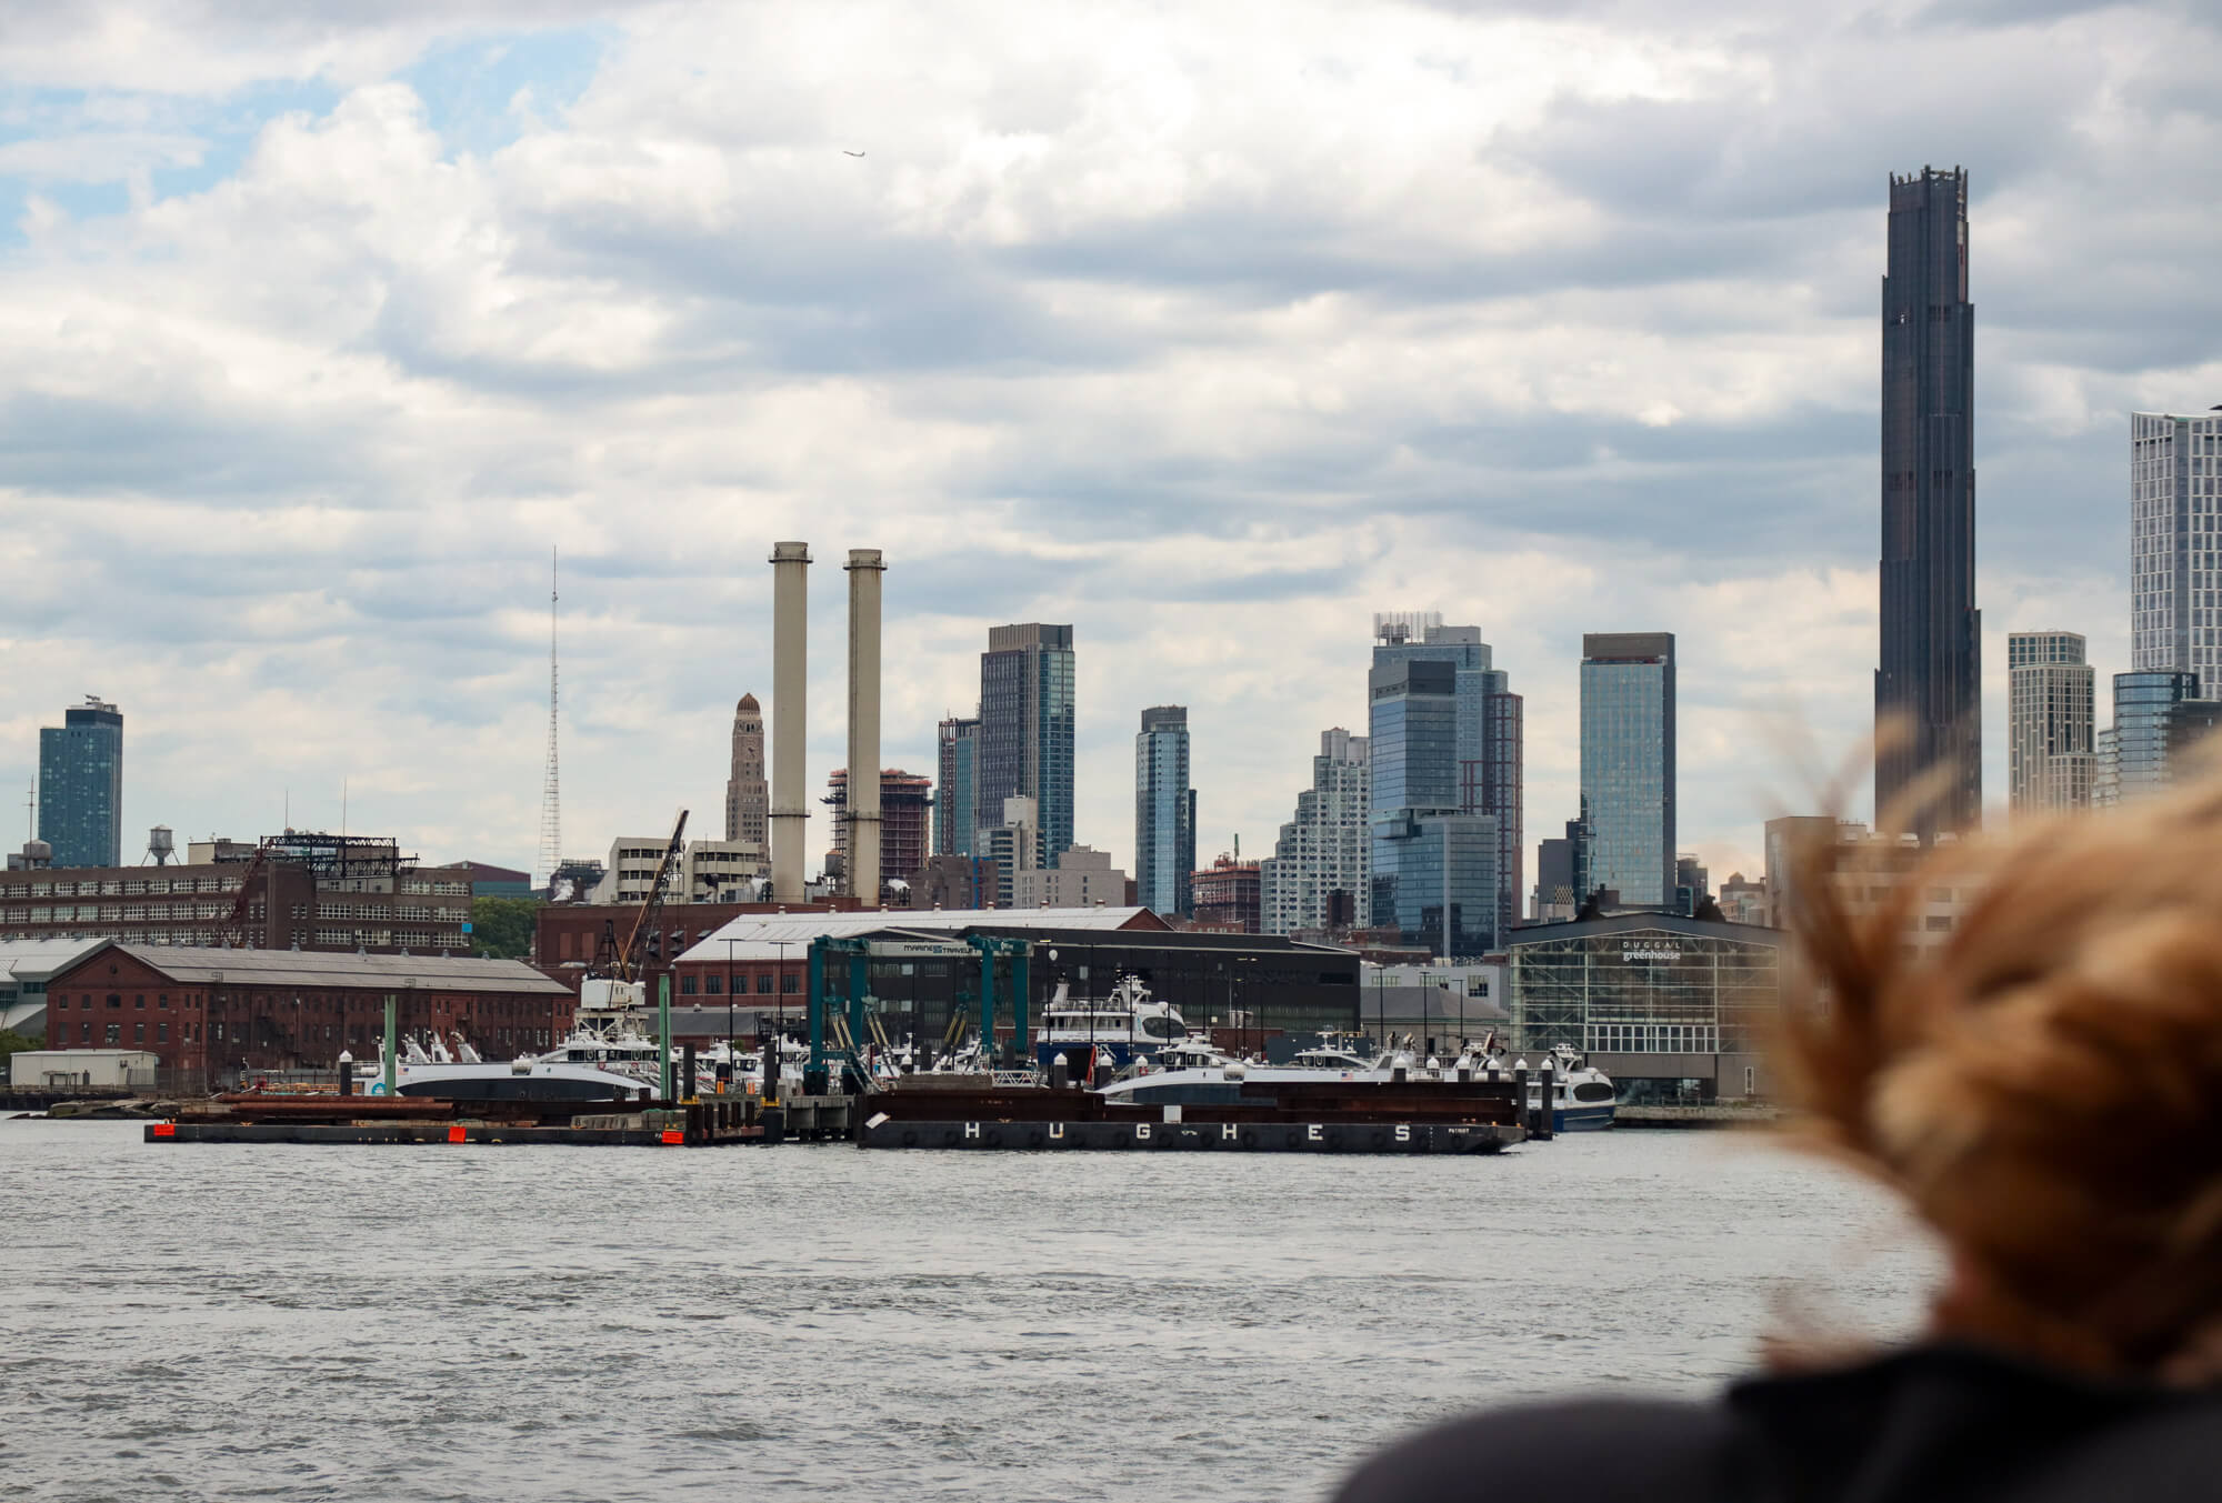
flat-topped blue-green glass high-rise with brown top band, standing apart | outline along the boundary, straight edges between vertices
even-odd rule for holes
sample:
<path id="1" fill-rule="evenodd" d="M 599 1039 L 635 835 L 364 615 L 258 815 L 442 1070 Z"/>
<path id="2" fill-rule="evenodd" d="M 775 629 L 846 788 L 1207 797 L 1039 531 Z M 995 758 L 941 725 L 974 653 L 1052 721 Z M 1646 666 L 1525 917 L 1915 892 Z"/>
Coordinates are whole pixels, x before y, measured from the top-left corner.
<path id="1" fill-rule="evenodd" d="M 1589 885 L 1622 907 L 1673 903 L 1673 631 L 1582 636 L 1582 805 Z"/>

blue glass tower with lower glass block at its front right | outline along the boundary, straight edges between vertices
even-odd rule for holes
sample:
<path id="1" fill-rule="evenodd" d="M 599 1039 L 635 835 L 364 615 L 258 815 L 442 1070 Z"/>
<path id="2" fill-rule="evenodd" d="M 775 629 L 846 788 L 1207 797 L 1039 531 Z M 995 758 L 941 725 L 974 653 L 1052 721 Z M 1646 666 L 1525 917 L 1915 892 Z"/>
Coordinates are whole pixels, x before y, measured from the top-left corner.
<path id="1" fill-rule="evenodd" d="M 1373 756 L 1373 925 L 1440 958 L 1500 943 L 1498 820 L 1460 809 L 1453 663 L 1395 656 L 1367 674 Z"/>

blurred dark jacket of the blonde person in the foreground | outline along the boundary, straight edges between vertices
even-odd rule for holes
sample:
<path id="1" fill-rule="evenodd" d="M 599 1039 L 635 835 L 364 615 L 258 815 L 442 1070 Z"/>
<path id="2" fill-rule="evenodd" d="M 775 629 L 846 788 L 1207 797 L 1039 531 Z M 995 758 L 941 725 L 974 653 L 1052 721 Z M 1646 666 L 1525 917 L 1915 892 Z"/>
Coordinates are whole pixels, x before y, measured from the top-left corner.
<path id="1" fill-rule="evenodd" d="M 2189 1503 L 2222 1499 L 2222 1392 L 2104 1385 L 1971 1347 L 1580 1399 L 1415 1434 L 1340 1503 Z"/>

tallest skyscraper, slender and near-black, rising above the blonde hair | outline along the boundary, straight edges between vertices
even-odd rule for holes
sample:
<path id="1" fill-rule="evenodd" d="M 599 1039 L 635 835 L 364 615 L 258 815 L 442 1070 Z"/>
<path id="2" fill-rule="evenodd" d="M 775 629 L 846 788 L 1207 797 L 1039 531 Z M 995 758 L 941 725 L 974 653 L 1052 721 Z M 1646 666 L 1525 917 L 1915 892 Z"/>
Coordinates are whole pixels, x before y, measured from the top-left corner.
<path id="1" fill-rule="evenodd" d="M 1966 171 L 1891 178 L 1882 278 L 1882 667 L 1875 818 L 1931 840 L 1982 818 L 1982 611 L 1975 609 L 1975 305 Z M 1929 807 L 1898 798 L 1931 767 Z"/>

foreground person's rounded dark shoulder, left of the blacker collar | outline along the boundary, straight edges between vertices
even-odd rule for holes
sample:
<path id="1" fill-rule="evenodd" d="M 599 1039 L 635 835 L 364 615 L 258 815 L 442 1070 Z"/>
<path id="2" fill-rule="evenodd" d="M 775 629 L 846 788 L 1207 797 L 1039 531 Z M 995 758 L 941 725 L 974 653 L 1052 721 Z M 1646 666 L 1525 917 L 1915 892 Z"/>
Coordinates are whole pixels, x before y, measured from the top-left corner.
<path id="1" fill-rule="evenodd" d="M 1713 1403 L 1571 1399 L 1422 1430 L 1367 1461 L 1335 1503 L 1573 1492 L 1584 1503 L 1718 1499 L 1733 1427 Z"/>

